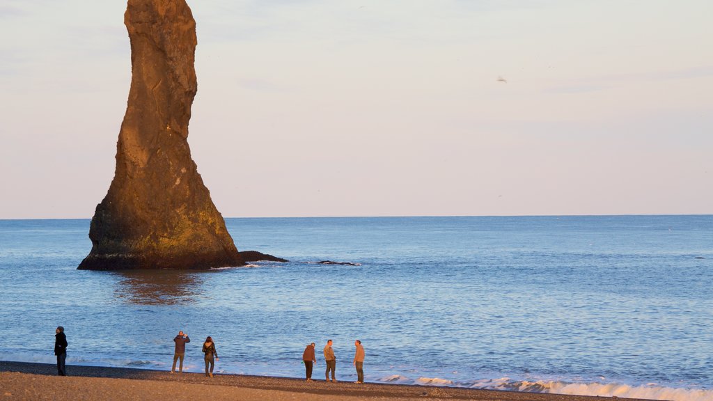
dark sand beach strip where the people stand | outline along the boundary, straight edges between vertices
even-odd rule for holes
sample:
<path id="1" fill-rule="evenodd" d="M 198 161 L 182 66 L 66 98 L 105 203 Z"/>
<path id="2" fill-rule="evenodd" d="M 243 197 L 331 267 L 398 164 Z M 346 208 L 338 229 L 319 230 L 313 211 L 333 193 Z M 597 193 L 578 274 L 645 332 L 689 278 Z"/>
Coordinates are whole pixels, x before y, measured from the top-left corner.
<path id="1" fill-rule="evenodd" d="M 202 373 L 179 375 L 120 367 L 68 365 L 67 373 L 67 377 L 56 376 L 55 365 L 0 361 L 0 400 L 617 400 L 453 387 L 305 382 L 282 377 L 215 375 L 210 378 Z"/>

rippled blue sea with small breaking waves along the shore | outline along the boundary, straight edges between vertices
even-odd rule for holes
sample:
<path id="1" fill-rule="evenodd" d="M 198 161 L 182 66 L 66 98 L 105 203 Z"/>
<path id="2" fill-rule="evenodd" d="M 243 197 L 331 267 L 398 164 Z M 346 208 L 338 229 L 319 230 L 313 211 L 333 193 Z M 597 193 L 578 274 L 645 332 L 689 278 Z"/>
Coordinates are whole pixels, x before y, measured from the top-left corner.
<path id="1" fill-rule="evenodd" d="M 713 216 L 228 218 L 289 263 L 76 270 L 89 220 L 0 220 L 0 360 L 713 400 Z M 334 260 L 354 265 L 326 265 Z"/>

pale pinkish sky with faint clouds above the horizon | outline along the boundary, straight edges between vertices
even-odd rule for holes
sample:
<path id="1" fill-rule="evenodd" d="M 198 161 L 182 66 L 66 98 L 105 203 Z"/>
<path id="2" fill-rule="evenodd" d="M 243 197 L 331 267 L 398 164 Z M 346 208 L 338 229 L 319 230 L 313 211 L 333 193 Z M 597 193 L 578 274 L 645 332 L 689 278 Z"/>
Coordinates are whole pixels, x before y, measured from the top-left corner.
<path id="1" fill-rule="evenodd" d="M 188 4 L 225 217 L 713 213 L 713 1 Z M 106 195 L 125 8 L 0 1 L 0 218 Z"/>

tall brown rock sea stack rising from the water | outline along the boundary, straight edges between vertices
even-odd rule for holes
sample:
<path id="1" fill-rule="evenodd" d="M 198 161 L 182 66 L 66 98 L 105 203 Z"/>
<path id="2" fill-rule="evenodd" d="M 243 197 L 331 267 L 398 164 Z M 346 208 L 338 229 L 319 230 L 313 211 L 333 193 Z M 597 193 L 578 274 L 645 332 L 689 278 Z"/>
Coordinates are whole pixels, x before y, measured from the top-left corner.
<path id="1" fill-rule="evenodd" d="M 193 14 L 185 0 L 128 0 L 124 24 L 132 74 L 116 171 L 79 269 L 244 265 L 188 147 L 198 88 Z"/>

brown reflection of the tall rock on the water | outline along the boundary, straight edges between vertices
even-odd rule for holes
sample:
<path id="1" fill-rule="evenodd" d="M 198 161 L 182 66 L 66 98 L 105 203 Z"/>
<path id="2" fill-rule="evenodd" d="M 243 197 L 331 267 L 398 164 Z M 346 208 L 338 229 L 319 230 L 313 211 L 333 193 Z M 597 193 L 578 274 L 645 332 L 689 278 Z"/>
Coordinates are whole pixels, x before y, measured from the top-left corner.
<path id="1" fill-rule="evenodd" d="M 178 305 L 200 297 L 200 273 L 179 270 L 122 270 L 117 276 L 116 296 L 135 305 Z"/>

